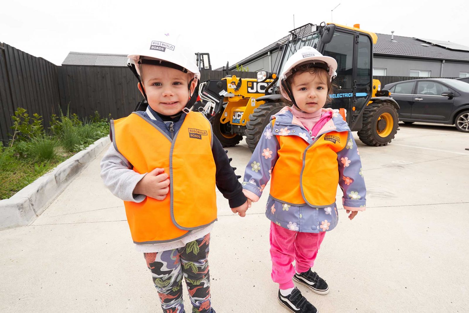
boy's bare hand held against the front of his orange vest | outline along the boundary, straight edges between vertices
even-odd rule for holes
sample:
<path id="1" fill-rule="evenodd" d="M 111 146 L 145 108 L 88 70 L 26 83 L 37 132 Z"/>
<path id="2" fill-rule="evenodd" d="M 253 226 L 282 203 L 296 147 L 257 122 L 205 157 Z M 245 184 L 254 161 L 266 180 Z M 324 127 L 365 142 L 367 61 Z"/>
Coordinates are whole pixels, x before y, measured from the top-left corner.
<path id="1" fill-rule="evenodd" d="M 157 200 L 164 200 L 169 191 L 169 176 L 164 168 L 155 168 L 138 182 L 134 194 L 142 194 Z"/>

